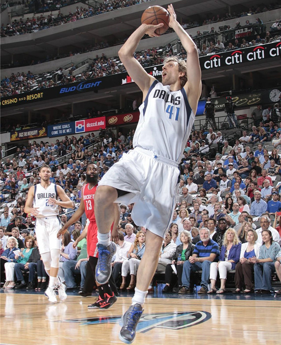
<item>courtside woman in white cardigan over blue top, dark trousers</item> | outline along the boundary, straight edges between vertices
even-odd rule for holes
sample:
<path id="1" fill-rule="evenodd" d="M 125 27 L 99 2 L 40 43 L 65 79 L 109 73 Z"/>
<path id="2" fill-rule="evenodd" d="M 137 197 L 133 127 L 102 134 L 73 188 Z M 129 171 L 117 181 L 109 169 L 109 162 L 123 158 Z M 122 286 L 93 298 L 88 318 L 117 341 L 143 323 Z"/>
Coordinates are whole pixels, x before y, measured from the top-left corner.
<path id="1" fill-rule="evenodd" d="M 234 293 L 253 293 L 252 272 L 254 263 L 250 262 L 250 258 L 258 257 L 260 243 L 256 242 L 257 233 L 255 230 L 249 229 L 246 235 L 247 241 L 241 246 L 240 260 L 235 267 L 235 286 Z"/>

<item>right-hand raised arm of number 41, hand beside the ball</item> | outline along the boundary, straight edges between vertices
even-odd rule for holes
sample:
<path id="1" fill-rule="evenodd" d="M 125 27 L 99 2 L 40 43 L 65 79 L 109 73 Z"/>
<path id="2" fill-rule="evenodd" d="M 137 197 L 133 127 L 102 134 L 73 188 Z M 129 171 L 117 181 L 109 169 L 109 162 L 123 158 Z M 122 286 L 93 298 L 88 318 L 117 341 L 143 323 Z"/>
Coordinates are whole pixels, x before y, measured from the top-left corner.
<path id="1" fill-rule="evenodd" d="M 177 16 L 172 4 L 168 6 L 168 12 L 170 13 L 169 27 L 175 30 L 183 47 L 187 51 L 187 83 L 184 88 L 187 92 L 189 105 L 193 113 L 196 114 L 198 100 L 202 92 L 198 50 L 191 37 L 177 21 Z"/>

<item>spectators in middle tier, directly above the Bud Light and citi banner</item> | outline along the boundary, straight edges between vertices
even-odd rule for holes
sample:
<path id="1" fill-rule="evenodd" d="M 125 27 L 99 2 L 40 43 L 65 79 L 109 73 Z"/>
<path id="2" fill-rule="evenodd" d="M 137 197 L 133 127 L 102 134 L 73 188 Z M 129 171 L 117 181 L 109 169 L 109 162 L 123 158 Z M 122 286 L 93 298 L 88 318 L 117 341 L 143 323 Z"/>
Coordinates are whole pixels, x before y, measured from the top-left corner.
<path id="1" fill-rule="evenodd" d="M 211 40 L 207 45 L 206 43 L 202 43 L 202 48 L 198 48 L 198 53 L 199 56 L 203 56 L 281 40 L 280 34 L 272 36 L 269 31 L 266 32 L 265 39 L 260 39 L 259 35 L 256 35 L 256 37 L 255 40 L 251 40 L 250 42 L 248 42 L 246 38 L 240 40 L 235 39 L 234 45 L 229 42 L 227 46 L 224 46 L 224 43 L 220 42 L 220 40 L 217 41 L 217 44 L 215 44 L 215 42 L 213 43 Z M 187 52 L 184 49 L 181 49 L 179 52 L 174 51 L 171 43 L 164 47 L 152 47 L 145 51 L 136 52 L 135 58 L 143 67 L 149 67 L 161 64 L 164 58 L 172 55 L 180 56 L 183 59 L 187 58 Z M 28 73 L 12 73 L 10 77 L 5 76 L 1 80 L 0 97 L 21 94 L 34 89 L 42 90 L 58 85 L 62 86 L 87 79 L 100 78 L 125 72 L 125 67 L 119 58 L 107 58 L 104 53 L 102 53 L 101 56 L 96 55 L 86 71 L 74 75 L 73 71 L 75 71 L 75 69 L 76 66 L 72 63 L 66 70 L 60 68 L 58 71 L 49 71 L 37 75 L 33 75 L 31 71 L 28 71 Z"/>

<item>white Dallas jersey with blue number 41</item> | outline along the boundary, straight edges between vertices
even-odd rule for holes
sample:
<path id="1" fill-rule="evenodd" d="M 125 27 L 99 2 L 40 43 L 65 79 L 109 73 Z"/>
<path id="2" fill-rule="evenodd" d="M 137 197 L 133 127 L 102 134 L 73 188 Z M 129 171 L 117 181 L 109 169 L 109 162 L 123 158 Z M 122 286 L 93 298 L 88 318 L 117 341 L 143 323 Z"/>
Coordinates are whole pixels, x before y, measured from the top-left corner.
<path id="1" fill-rule="evenodd" d="M 133 146 L 180 162 L 195 118 L 185 89 L 170 91 L 156 80 L 139 111 Z"/>

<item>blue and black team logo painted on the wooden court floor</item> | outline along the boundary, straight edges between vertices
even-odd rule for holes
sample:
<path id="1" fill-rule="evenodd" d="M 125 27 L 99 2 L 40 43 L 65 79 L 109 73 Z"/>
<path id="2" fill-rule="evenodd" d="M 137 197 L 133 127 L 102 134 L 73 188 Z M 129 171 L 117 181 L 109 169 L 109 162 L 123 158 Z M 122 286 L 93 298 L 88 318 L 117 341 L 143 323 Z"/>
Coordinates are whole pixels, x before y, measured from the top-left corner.
<path id="1" fill-rule="evenodd" d="M 210 318 L 211 314 L 204 311 L 143 314 L 137 325 L 136 331 L 145 333 L 153 328 L 168 328 L 177 330 L 197 325 L 209 320 Z M 75 322 L 79 323 L 80 325 L 120 323 L 121 315 L 73 318 L 59 322 Z"/>

